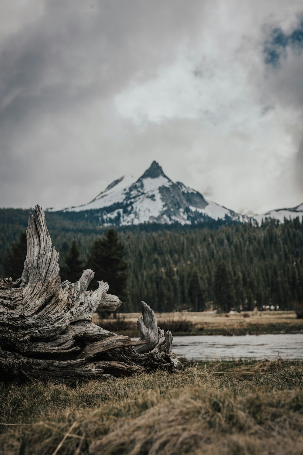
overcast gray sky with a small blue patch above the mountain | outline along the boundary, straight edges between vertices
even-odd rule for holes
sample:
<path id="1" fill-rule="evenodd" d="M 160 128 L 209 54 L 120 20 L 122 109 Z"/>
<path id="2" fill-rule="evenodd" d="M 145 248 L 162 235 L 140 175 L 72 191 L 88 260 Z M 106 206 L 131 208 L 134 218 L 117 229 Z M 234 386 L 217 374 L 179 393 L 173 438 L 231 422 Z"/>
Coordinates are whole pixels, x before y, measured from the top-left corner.
<path id="1" fill-rule="evenodd" d="M 1 0 L 0 207 L 153 160 L 237 212 L 303 202 L 302 0 Z"/>

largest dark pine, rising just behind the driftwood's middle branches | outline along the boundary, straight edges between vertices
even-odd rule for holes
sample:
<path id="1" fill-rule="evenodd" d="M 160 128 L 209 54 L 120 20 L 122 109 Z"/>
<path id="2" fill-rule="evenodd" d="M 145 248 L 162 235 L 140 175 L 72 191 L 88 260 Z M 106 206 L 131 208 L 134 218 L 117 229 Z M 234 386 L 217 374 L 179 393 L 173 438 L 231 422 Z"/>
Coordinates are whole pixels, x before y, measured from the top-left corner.
<path id="1" fill-rule="evenodd" d="M 114 229 L 108 229 L 103 238 L 97 238 L 88 256 L 88 268 L 94 272 L 91 289 L 98 288 L 98 281 L 109 284 L 109 293 L 120 299 L 126 298 L 127 262 L 124 260 L 124 246 Z"/>

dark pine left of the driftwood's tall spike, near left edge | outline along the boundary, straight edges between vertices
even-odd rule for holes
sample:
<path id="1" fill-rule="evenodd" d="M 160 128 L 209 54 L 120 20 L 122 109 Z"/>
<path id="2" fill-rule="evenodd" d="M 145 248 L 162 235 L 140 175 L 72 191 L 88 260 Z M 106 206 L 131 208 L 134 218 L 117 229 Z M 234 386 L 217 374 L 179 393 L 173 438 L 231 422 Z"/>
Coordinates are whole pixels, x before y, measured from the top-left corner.
<path id="1" fill-rule="evenodd" d="M 26 232 L 20 235 L 19 242 L 11 245 L 5 257 L 5 276 L 15 281 L 21 278 L 26 258 Z"/>

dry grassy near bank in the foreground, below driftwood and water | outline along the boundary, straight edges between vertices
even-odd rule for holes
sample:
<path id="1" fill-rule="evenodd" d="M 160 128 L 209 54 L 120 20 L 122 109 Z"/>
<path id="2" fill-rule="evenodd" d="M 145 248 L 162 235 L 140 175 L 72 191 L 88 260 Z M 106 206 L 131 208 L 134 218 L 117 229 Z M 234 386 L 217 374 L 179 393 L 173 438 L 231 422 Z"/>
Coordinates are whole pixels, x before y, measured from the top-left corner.
<path id="1" fill-rule="evenodd" d="M 298 455 L 303 363 L 206 362 L 107 382 L 0 384 L 4 455 Z"/>

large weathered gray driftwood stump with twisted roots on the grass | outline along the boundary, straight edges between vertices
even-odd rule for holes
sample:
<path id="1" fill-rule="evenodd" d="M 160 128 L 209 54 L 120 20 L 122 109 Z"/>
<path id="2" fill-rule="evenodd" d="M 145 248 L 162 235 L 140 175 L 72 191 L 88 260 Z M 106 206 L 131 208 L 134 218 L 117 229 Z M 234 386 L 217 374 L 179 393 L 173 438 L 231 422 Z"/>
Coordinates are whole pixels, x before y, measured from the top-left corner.
<path id="1" fill-rule="evenodd" d="M 99 282 L 87 291 L 92 270 L 76 283 L 59 277 L 58 256 L 51 245 L 44 212 L 29 214 L 27 256 L 22 277 L 0 279 L 0 372 L 39 379 L 78 379 L 134 374 L 155 368 L 182 368 L 171 352 L 172 336 L 157 327 L 142 302 L 140 340 L 102 329 L 92 322 L 100 311 L 121 305 Z"/>

